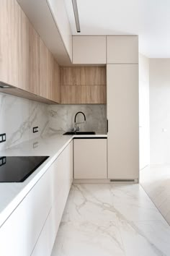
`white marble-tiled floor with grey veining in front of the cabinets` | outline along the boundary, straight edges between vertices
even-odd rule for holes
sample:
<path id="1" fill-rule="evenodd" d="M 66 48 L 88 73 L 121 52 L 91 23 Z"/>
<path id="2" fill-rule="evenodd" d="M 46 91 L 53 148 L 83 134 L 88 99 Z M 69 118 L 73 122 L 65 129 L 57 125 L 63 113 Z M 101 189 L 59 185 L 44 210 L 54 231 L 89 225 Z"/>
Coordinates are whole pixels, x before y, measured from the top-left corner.
<path id="1" fill-rule="evenodd" d="M 74 184 L 51 256 L 170 255 L 170 226 L 140 184 Z"/>

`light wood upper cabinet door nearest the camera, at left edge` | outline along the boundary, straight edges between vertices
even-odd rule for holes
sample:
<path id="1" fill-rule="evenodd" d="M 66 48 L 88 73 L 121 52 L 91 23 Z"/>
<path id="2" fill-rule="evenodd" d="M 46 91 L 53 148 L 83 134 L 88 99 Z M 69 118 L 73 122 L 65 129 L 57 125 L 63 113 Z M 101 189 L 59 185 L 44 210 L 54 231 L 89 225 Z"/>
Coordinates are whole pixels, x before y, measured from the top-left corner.
<path id="1" fill-rule="evenodd" d="M 0 81 L 28 90 L 29 20 L 15 0 L 0 2 Z"/>

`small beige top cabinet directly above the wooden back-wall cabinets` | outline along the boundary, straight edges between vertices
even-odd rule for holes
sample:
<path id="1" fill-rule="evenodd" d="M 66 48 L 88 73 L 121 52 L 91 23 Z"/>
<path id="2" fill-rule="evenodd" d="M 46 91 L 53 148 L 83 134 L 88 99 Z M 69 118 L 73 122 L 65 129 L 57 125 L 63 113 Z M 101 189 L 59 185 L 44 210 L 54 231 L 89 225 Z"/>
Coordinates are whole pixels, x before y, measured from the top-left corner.
<path id="1" fill-rule="evenodd" d="M 106 36 L 73 36 L 73 64 L 106 64 Z"/>

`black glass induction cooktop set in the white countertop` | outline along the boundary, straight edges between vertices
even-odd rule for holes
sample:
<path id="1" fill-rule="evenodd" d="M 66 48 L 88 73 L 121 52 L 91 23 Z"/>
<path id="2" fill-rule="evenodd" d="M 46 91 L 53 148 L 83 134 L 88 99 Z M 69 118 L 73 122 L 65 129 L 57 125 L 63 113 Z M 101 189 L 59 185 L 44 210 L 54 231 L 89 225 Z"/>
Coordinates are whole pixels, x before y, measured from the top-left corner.
<path id="1" fill-rule="evenodd" d="M 0 156 L 0 182 L 24 182 L 49 156 Z"/>

